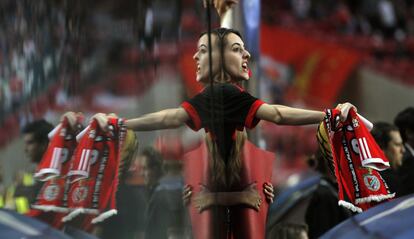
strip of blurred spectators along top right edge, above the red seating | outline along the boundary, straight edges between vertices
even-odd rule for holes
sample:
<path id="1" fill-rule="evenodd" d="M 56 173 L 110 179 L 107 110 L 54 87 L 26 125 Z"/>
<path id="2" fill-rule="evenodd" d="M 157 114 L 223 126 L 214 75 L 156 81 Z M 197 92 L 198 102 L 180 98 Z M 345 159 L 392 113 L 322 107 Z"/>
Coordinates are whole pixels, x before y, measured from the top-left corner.
<path id="1" fill-rule="evenodd" d="M 264 1 L 263 5 L 271 4 Z M 280 0 L 263 8 L 267 22 L 289 24 L 286 12 L 303 24 L 317 23 L 325 32 L 370 35 L 402 41 L 414 33 L 411 1 L 398 0 Z"/>

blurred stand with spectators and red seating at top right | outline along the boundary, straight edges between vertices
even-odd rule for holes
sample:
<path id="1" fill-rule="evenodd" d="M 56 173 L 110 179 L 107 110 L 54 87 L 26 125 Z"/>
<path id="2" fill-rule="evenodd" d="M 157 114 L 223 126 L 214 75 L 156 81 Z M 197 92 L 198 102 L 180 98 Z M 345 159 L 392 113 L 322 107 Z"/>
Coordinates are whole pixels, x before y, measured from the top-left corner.
<path id="1" fill-rule="evenodd" d="M 262 20 L 365 54 L 364 64 L 413 85 L 414 7 L 398 0 L 263 1 Z"/>

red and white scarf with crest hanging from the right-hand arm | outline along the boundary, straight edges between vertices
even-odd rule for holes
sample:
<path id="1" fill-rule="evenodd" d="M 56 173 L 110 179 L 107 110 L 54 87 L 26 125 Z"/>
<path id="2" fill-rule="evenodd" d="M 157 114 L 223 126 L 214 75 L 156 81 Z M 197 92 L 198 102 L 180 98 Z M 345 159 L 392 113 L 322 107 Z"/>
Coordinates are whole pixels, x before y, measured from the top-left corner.
<path id="1" fill-rule="evenodd" d="M 345 122 L 339 122 L 338 110 L 326 110 L 324 126 L 329 133 L 335 176 L 338 182 L 339 204 L 353 211 L 361 212 L 378 202 L 394 197 L 377 170 L 371 164 L 362 164 L 360 139 L 366 138 L 365 149 L 371 151 L 371 158 L 380 158 L 382 167 L 388 160 L 372 140 L 371 134 L 353 109 Z"/>

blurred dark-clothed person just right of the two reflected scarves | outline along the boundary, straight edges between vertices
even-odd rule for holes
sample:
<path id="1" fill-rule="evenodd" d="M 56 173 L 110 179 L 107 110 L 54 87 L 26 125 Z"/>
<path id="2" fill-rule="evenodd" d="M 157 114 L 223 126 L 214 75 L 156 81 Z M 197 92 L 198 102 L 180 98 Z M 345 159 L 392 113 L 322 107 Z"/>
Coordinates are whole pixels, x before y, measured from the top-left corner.
<path id="1" fill-rule="evenodd" d="M 118 214 L 102 225 L 102 239 L 143 239 L 150 198 L 162 175 L 161 154 L 147 147 L 136 156 L 117 194 Z M 159 223 L 156 223 L 159 225 Z"/>

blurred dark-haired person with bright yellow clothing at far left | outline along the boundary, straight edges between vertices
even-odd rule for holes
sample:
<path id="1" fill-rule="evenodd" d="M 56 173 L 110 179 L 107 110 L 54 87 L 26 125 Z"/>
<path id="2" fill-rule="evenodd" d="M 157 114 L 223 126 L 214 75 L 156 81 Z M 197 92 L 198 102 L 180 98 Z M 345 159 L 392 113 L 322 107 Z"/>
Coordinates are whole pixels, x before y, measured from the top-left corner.
<path id="1" fill-rule="evenodd" d="M 52 130 L 53 125 L 44 119 L 23 127 L 24 151 L 31 163 L 37 165 L 42 160 L 49 144 L 48 134 Z M 6 189 L 4 206 L 22 214 L 27 213 L 41 187 L 42 183 L 34 181 L 32 171 L 18 172 L 16 182 Z"/>

